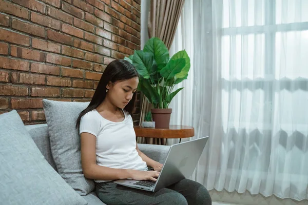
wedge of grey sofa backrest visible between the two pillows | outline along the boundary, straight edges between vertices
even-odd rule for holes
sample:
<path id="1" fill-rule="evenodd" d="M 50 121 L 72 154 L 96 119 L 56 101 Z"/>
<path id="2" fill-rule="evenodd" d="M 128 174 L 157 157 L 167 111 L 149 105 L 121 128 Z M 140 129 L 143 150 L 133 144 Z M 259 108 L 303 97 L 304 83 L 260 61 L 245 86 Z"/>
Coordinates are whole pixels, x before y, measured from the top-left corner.
<path id="1" fill-rule="evenodd" d="M 50 150 L 47 124 L 27 125 L 25 127 L 28 130 L 33 141 L 35 142 L 37 148 L 41 151 L 45 159 L 48 161 L 49 165 L 51 165 L 51 167 L 56 170 L 55 163 Z"/>

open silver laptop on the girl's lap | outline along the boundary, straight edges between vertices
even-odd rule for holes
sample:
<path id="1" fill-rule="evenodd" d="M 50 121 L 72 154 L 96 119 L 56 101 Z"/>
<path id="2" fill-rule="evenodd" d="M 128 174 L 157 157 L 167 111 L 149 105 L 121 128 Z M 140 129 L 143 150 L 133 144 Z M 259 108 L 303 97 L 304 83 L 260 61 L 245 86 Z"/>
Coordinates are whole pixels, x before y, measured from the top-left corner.
<path id="1" fill-rule="evenodd" d="M 202 137 L 171 145 L 157 181 L 120 179 L 114 181 L 114 183 L 134 189 L 156 192 L 188 178 L 194 172 L 207 140 L 208 137 Z"/>

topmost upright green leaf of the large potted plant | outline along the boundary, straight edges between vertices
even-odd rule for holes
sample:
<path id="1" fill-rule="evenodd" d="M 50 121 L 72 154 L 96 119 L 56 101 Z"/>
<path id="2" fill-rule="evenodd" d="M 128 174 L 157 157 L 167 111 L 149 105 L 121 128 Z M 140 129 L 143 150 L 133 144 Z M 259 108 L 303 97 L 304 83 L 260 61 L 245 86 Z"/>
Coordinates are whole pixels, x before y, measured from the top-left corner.
<path id="1" fill-rule="evenodd" d="M 169 61 L 169 51 L 164 42 L 158 37 L 150 38 L 144 45 L 143 50 L 153 54 L 158 71 L 167 65 Z"/>

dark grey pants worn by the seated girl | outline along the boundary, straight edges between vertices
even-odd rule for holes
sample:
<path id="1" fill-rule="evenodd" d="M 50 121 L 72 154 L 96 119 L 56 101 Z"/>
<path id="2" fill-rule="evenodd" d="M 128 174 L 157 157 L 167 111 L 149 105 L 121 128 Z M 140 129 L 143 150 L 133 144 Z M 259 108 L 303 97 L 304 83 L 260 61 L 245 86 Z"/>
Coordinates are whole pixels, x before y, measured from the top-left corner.
<path id="1" fill-rule="evenodd" d="M 112 181 L 95 183 L 98 197 L 106 204 L 192 204 L 211 205 L 211 198 L 200 183 L 183 179 L 155 193 L 117 185 Z"/>

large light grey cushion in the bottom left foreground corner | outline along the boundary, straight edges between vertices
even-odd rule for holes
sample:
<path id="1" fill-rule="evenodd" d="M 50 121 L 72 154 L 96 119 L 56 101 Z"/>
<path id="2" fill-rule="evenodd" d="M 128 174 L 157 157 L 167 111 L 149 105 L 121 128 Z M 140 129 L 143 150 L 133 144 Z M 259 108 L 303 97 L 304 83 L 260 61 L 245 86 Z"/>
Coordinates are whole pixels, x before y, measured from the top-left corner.
<path id="1" fill-rule="evenodd" d="M 49 165 L 22 119 L 0 115 L 1 204 L 87 204 Z"/>

